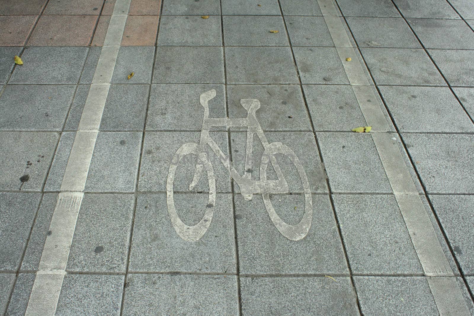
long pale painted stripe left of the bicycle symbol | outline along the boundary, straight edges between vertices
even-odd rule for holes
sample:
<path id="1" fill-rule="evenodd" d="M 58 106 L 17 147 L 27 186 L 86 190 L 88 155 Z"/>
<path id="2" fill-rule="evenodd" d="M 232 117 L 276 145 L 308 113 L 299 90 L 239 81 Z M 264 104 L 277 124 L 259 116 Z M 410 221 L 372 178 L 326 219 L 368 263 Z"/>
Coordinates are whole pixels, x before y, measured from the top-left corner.
<path id="1" fill-rule="evenodd" d="M 130 2 L 131 0 L 117 0 L 110 17 L 91 88 L 65 168 L 61 191 L 51 218 L 49 230 L 53 233 L 46 237 L 26 316 L 53 316 L 56 313 L 77 217 L 84 197 L 87 174 Z"/>

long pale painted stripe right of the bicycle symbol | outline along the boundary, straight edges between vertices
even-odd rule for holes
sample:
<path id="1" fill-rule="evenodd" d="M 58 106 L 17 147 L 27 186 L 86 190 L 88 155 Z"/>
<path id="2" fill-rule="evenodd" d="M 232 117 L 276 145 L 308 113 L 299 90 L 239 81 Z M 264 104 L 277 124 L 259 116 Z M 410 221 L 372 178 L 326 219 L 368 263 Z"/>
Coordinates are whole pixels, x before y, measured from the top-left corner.
<path id="1" fill-rule="evenodd" d="M 349 40 L 344 22 L 337 15 L 332 0 L 318 0 L 318 4 L 362 114 L 367 125 L 372 126 L 370 134 L 427 277 L 439 314 L 470 315 L 456 277 L 403 160 L 396 138 L 388 133 L 390 127 L 381 108 L 383 105 L 380 102 L 367 101 L 377 98 L 367 79 L 364 66 L 359 62 Z M 347 57 L 351 57 L 352 60 L 347 62 Z"/>

